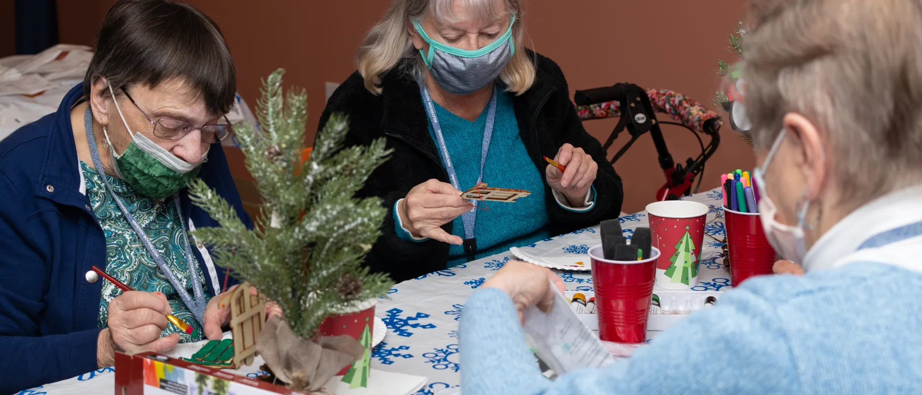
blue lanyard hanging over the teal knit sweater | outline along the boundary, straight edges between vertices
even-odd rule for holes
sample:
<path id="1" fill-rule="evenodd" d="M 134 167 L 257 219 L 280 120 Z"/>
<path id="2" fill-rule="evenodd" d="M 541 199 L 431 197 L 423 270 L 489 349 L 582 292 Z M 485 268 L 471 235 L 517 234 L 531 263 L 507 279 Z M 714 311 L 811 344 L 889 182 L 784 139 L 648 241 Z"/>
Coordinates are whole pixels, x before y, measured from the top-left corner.
<path id="1" fill-rule="evenodd" d="M 429 112 L 429 122 L 432 125 L 432 131 L 435 132 L 435 142 L 439 145 L 439 153 L 445 162 L 445 170 L 448 172 L 448 180 L 456 190 L 464 192 L 458 182 L 455 174 L 455 165 L 452 164 L 452 158 L 448 155 L 448 147 L 445 145 L 445 137 L 442 134 L 442 125 L 439 124 L 439 117 L 435 115 L 435 106 L 432 104 L 432 98 L 429 94 L 429 87 L 420 82 L 420 94 L 426 104 L 426 111 Z M 493 86 L 493 95 L 490 98 L 490 108 L 487 110 L 487 125 L 483 129 L 483 144 L 480 149 L 480 174 L 477 177 L 479 184 L 483 180 L 483 165 L 487 163 L 487 151 L 490 150 L 490 141 L 493 137 L 493 122 L 496 121 L 496 86 Z M 471 201 L 473 202 L 473 201 Z M 470 211 L 461 215 L 461 221 L 464 223 L 465 251 L 472 253 L 477 250 L 477 241 L 474 238 L 474 225 L 477 223 L 477 208 L 471 207 Z"/>

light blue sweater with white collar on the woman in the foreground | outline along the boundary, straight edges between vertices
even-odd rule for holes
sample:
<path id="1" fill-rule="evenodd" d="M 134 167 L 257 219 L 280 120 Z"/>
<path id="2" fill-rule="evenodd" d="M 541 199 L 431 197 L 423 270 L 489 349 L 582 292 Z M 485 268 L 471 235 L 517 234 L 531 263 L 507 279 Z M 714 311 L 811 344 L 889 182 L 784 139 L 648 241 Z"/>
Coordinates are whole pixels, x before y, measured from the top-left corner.
<path id="1" fill-rule="evenodd" d="M 541 376 L 509 296 L 481 288 L 461 319 L 461 389 L 465 395 L 920 393 L 922 209 L 908 204 L 919 206 L 917 196 L 904 195 L 911 200 L 904 199 L 900 213 L 877 204 L 850 215 L 817 242 L 823 253 L 811 250 L 807 259 L 839 264 L 814 262 L 824 268 L 812 272 L 808 264 L 802 277 L 751 279 L 630 358 L 556 381 Z M 916 221 L 915 234 L 891 231 L 889 237 L 903 241 L 850 256 L 902 260 L 842 259 L 873 240 L 867 229 L 880 232 L 887 221 Z M 865 234 L 838 237 L 857 231 Z"/>

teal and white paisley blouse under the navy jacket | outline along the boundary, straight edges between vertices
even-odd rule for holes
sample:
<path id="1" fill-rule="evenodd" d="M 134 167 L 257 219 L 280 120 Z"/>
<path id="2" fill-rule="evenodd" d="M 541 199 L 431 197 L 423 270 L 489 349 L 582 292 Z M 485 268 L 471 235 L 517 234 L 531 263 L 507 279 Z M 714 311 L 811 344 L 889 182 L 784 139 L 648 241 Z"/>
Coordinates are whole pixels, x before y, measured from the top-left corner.
<path id="1" fill-rule="evenodd" d="M 102 233 L 106 236 L 106 272 L 138 291 L 160 291 L 170 301 L 172 314 L 198 330 L 196 337 L 193 338 L 169 323 L 160 336 L 178 332 L 181 336 L 180 342 L 202 340 L 201 325 L 173 289 L 170 281 L 160 273 L 160 268 L 150 257 L 148 250 L 144 248 L 144 243 L 137 237 L 112 196 L 106 191 L 99 173 L 83 162 L 80 162 L 80 169 L 83 171 L 83 179 L 87 186 L 89 203 L 92 205 L 93 212 L 96 213 L 96 219 L 100 222 Z M 189 264 L 183 254 L 185 243 L 183 242 L 182 225 L 171 198 L 150 199 L 136 194 L 123 180 L 109 175 L 106 177 L 109 185 L 112 186 L 112 192 L 135 215 L 136 221 L 145 229 L 154 247 L 163 254 L 164 261 L 168 262 L 172 272 L 183 282 L 183 286 L 192 296 L 193 285 L 189 277 Z M 195 268 L 195 275 L 202 279 L 200 284 L 204 286 L 206 283 L 201 268 L 197 264 L 192 266 Z M 100 281 L 104 280 L 100 278 Z M 206 298 L 210 297 L 207 290 L 203 289 L 202 292 Z M 109 302 L 119 295 L 122 295 L 121 289 L 108 281 L 103 282 L 98 321 L 100 328 L 107 326 Z"/>

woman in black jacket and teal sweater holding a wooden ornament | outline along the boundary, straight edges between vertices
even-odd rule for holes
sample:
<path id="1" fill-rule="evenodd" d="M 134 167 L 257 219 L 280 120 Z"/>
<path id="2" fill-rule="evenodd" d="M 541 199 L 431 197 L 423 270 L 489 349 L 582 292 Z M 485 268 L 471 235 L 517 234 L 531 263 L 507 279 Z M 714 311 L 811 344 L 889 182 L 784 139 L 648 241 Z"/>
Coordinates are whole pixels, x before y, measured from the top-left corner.
<path id="1" fill-rule="evenodd" d="M 394 0 L 369 31 L 320 124 L 345 112 L 346 145 L 394 149 L 359 192 L 391 210 L 373 271 L 404 281 L 621 212 L 621 179 L 524 22 L 520 0 Z M 460 194 L 479 182 L 531 195 L 478 210 Z"/>

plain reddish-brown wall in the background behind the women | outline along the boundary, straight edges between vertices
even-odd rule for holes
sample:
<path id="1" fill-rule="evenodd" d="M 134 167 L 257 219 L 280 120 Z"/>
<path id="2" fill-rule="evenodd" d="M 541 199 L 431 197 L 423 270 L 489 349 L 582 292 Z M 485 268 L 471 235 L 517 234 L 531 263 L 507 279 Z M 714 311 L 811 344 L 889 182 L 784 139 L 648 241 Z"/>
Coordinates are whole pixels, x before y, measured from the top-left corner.
<path id="1" fill-rule="evenodd" d="M 365 31 L 389 5 L 385 0 L 187 2 L 221 26 L 237 63 L 239 90 L 249 103 L 254 104 L 259 95 L 260 78 L 284 67 L 286 83 L 307 89 L 313 119 L 324 107 L 324 82 L 349 76 Z M 58 3 L 62 42 L 89 44 L 113 1 Z M 571 95 L 573 89 L 632 82 L 673 89 L 710 105 L 719 84 L 714 73 L 717 58 L 734 59 L 725 48 L 741 3 L 531 0 L 526 5 L 533 41 L 529 46 L 561 65 Z M 604 140 L 614 124 L 594 121 L 587 122 L 586 128 Z M 722 144 L 709 161 L 702 190 L 717 186 L 720 172 L 753 166 L 749 147 L 728 126 L 722 132 Z M 664 133 L 677 162 L 700 152 L 688 131 L 668 126 Z M 612 154 L 625 141 L 622 136 Z M 616 169 L 624 180 L 625 212 L 643 210 L 664 182 L 647 136 L 621 158 Z"/>

